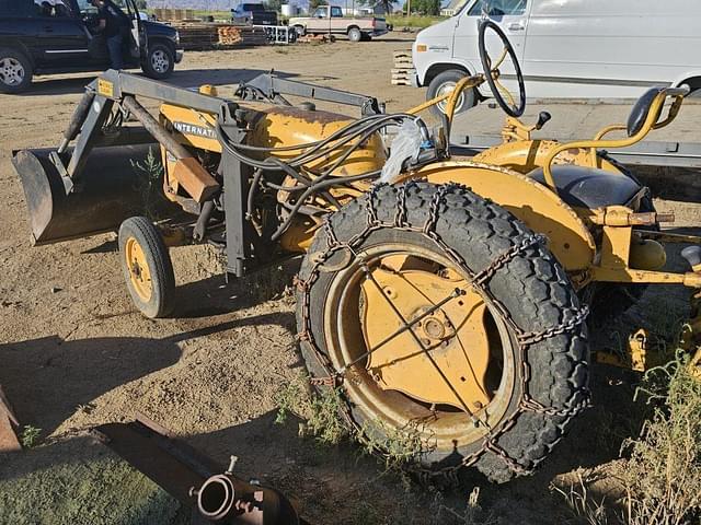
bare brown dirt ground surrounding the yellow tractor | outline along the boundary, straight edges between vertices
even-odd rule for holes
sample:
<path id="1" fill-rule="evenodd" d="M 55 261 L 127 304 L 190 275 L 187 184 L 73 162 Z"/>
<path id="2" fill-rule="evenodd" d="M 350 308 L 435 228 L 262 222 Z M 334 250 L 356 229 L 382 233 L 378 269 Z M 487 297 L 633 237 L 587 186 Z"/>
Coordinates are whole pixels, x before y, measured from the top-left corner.
<path id="1" fill-rule="evenodd" d="M 375 94 L 400 110 L 424 98 L 422 90 L 389 83 L 392 50 L 409 46 L 400 35 L 360 45 L 187 52 L 172 82 L 230 86 L 273 69 Z M 210 250 L 176 248 L 180 307 L 174 318 L 153 322 L 127 298 L 113 236 L 31 247 L 11 151 L 57 145 L 90 79 L 38 79 L 27 94 L 0 95 L 0 384 L 21 421 L 41 429 L 42 443 L 0 455 L 0 523 L 185 523 L 174 502 L 81 432 L 137 411 L 222 465 L 235 454 L 242 477 L 285 490 L 311 523 L 451 523 L 441 505 L 462 512 L 474 487 L 493 523 L 570 520 L 549 486 L 618 456 L 634 432 L 627 427 L 633 386 L 621 380 L 625 374 L 597 369 L 596 407 L 533 477 L 496 487 L 467 471 L 459 487 L 438 497 L 407 488 L 353 447 L 299 438 L 294 419 L 274 424 L 276 393 L 302 371 L 286 291 L 295 262 L 227 287 Z M 698 223 L 694 206 L 664 206 Z M 680 298 L 650 302 L 670 318 L 683 315 Z"/>

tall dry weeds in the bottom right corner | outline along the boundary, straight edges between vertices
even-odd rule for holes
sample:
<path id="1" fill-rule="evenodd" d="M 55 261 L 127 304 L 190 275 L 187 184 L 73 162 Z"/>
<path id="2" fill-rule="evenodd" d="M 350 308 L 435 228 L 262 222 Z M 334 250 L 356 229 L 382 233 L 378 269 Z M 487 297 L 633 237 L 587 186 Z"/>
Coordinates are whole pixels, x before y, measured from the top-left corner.
<path id="1" fill-rule="evenodd" d="M 566 489 L 553 487 L 575 523 L 586 525 L 701 524 L 701 381 L 679 354 L 647 372 L 636 397 L 652 408 L 636 439 L 623 443 L 623 459 L 608 475 L 622 497 L 606 501 L 590 490 L 597 479 L 577 472 Z"/>

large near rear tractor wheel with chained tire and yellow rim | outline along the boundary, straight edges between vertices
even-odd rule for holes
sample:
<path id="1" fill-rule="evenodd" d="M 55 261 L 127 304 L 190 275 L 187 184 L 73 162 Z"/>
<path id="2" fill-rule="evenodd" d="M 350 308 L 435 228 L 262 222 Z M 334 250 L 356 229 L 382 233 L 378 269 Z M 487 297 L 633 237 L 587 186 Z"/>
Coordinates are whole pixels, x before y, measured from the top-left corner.
<path id="1" fill-rule="evenodd" d="M 565 271 L 460 186 L 378 186 L 342 208 L 297 300 L 312 383 L 340 385 L 344 419 L 380 454 L 417 436 L 426 474 L 528 474 L 587 405 L 586 312 Z"/>

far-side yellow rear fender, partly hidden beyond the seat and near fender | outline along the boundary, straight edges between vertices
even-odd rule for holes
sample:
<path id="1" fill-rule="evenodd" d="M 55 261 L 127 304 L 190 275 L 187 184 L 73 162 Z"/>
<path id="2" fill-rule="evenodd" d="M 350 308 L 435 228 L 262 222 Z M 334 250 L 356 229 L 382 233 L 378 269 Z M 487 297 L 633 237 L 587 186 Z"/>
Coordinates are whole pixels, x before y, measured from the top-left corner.
<path id="1" fill-rule="evenodd" d="M 515 140 L 490 148 L 472 159 L 475 162 L 509 167 L 518 173 L 529 173 L 538 167 L 543 167 L 548 154 L 553 148 L 560 145 L 562 143 L 554 140 Z M 588 148 L 571 148 L 560 153 L 553 164 L 591 166 L 591 150 Z M 616 165 L 601 155 L 597 155 L 597 165 L 591 167 L 620 173 Z"/>

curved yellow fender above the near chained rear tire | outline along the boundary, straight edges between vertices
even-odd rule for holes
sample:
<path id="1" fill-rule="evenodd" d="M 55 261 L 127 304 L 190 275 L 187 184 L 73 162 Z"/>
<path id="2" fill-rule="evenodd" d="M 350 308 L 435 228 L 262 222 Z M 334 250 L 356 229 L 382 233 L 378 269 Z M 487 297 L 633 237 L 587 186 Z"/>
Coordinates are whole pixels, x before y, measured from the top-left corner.
<path id="1" fill-rule="evenodd" d="M 446 161 L 412 174 L 429 183 L 458 183 L 506 208 L 535 232 L 567 271 L 586 270 L 596 256 L 591 233 L 577 213 L 545 186 L 507 167 Z"/>

